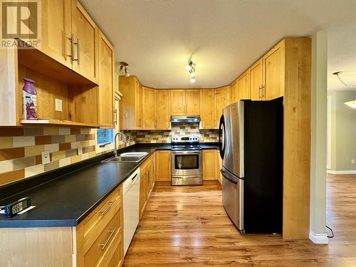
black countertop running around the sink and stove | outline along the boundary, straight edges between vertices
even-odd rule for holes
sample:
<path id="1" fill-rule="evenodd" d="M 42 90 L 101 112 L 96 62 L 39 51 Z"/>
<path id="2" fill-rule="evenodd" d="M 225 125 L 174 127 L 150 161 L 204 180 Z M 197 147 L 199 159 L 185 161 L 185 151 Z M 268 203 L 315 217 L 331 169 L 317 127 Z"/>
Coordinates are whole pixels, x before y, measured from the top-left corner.
<path id="1" fill-rule="evenodd" d="M 201 147 L 216 149 L 217 145 L 201 144 Z M 36 205 L 36 208 L 9 219 L 0 217 L 0 228 L 76 226 L 153 152 L 170 149 L 170 144 L 136 144 L 125 147 L 119 152 L 145 151 L 148 155 L 137 163 L 103 163 L 100 159 L 99 162 L 66 173 L 58 179 L 52 178 L 49 182 L 2 199 L 0 206 L 22 197 L 31 197 L 31 205 Z"/>

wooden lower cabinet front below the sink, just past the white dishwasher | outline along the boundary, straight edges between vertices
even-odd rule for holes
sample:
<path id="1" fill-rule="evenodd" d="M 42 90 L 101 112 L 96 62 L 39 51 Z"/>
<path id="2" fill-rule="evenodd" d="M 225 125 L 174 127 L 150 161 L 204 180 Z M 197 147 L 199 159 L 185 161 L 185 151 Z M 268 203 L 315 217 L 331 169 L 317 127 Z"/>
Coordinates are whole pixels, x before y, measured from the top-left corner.
<path id="1" fill-rule="evenodd" d="M 155 187 L 155 153 L 145 160 L 140 166 L 140 219 L 145 213 L 148 200 Z"/>

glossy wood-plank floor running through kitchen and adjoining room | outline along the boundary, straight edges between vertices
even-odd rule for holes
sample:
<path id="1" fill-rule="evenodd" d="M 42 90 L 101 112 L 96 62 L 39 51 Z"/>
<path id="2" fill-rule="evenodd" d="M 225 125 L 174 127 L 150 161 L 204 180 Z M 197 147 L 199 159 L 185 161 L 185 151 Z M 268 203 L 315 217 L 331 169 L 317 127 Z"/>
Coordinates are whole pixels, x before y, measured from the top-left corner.
<path id="1" fill-rule="evenodd" d="M 124 266 L 356 266 L 356 176 L 328 177 L 330 244 L 239 234 L 221 186 L 157 185 Z"/>

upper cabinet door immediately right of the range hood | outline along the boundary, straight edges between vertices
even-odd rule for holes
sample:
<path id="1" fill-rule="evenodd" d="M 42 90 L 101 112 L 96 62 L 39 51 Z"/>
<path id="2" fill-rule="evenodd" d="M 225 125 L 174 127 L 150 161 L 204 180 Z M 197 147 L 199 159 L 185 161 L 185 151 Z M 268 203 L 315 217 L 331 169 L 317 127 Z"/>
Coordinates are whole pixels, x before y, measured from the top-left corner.
<path id="1" fill-rule="evenodd" d="M 213 129 L 215 111 L 214 89 L 200 90 L 200 127 L 201 129 Z"/>

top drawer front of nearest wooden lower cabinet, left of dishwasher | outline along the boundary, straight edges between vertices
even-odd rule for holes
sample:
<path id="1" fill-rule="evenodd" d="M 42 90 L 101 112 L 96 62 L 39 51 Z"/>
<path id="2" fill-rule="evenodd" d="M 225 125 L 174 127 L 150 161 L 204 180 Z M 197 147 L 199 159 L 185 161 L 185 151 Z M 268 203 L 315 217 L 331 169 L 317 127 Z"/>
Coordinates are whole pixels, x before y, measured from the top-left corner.
<path id="1" fill-rule="evenodd" d="M 77 227 L 78 250 L 90 247 L 105 226 L 122 206 L 122 185 L 115 189 L 102 204 L 89 214 Z"/>

